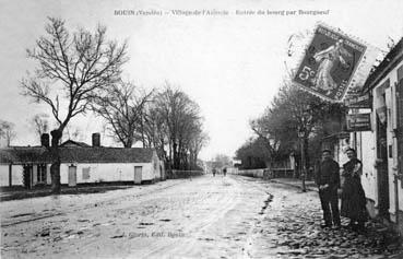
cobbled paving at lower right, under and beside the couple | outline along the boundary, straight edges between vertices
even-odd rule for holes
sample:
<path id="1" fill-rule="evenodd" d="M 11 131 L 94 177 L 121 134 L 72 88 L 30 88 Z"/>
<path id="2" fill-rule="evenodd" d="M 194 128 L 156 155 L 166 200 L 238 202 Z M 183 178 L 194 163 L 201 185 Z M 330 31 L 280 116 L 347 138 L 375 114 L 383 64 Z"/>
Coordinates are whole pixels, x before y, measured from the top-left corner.
<path id="1" fill-rule="evenodd" d="M 301 192 L 299 180 L 269 181 L 273 199 L 257 223 L 251 258 L 403 258 L 401 237 L 379 222 L 368 221 L 365 232 L 355 232 L 342 217 L 342 228 L 321 228 L 322 211 L 311 184 Z"/>

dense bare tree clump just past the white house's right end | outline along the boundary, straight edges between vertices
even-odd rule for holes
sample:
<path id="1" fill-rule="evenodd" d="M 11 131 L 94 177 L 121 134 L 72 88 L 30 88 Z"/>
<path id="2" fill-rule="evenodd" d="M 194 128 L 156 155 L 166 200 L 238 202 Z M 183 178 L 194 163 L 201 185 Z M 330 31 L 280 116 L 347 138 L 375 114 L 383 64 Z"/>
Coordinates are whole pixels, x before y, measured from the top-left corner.
<path id="1" fill-rule="evenodd" d="M 144 140 L 165 158 L 167 168 L 188 169 L 204 145 L 200 107 L 186 93 L 166 83 L 146 109 Z M 203 138 L 201 138 L 203 136 Z M 194 141 L 200 141 L 195 144 Z"/>

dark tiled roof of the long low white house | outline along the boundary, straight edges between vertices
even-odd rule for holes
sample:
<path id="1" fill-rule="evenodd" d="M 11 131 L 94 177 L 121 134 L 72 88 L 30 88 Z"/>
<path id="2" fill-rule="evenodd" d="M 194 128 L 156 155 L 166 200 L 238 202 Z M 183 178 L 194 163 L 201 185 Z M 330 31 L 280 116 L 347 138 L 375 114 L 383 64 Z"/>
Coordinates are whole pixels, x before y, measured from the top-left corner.
<path id="1" fill-rule="evenodd" d="M 150 163 L 154 149 L 141 148 L 59 148 L 61 163 Z M 44 146 L 0 149 L 0 164 L 51 163 L 54 156 Z"/>

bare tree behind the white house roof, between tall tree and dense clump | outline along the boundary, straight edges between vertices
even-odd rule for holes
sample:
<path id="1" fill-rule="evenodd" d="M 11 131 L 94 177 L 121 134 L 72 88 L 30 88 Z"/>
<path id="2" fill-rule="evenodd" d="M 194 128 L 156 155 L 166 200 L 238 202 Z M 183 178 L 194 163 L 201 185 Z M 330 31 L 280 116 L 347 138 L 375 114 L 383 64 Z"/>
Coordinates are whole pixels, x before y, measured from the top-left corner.
<path id="1" fill-rule="evenodd" d="M 152 97 L 153 91 L 145 92 L 131 82 L 120 81 L 95 96 L 92 109 L 106 121 L 106 128 L 116 141 L 131 148 L 137 141 L 144 142 L 144 109 Z"/>

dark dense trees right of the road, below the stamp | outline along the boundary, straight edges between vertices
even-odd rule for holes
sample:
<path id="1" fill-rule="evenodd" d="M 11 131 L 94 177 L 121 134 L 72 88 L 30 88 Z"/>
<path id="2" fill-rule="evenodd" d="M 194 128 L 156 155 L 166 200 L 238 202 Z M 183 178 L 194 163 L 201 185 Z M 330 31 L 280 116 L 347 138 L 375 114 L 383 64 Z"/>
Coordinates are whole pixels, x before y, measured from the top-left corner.
<path id="1" fill-rule="evenodd" d="M 277 95 L 260 117 L 250 121 L 254 137 L 237 150 L 237 158 L 249 167 L 273 167 L 289 154 L 300 154 L 304 141 L 306 168 L 318 158 L 321 139 L 340 132 L 346 108 L 324 102 L 291 81 L 284 81 Z"/>

